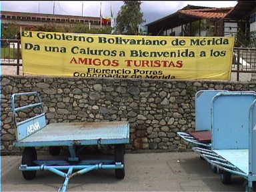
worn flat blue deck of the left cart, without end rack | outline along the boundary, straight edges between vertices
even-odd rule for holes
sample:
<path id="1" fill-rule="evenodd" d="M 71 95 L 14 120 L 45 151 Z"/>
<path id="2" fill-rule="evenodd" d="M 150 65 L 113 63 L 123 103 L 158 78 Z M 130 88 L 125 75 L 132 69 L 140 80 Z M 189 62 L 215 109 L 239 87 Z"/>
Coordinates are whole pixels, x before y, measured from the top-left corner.
<path id="1" fill-rule="evenodd" d="M 19 147 L 129 143 L 127 121 L 50 123 L 15 143 Z"/>

